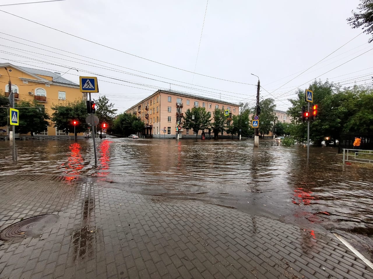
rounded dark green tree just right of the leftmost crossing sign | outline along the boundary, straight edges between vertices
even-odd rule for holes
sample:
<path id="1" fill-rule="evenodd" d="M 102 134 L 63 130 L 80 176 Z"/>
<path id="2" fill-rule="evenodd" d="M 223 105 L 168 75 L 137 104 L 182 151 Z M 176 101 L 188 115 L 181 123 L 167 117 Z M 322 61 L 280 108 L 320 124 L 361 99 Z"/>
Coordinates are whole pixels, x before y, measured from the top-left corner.
<path id="1" fill-rule="evenodd" d="M 21 101 L 15 104 L 15 108 L 19 109 L 19 125 L 16 126 L 16 131 L 20 134 L 30 132 L 31 136 L 34 133 L 39 133 L 47 129 L 50 116 L 46 112 L 44 106 L 41 106 L 37 101 Z"/>

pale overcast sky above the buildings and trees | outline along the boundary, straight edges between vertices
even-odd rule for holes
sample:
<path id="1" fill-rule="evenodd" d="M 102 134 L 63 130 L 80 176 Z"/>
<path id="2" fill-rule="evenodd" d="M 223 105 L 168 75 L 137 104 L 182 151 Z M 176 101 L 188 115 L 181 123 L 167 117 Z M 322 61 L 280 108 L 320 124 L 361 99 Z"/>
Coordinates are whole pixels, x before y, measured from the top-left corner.
<path id="1" fill-rule="evenodd" d="M 0 4 L 29 1 L 36 0 L 1 0 Z M 257 78 L 253 73 L 260 77 L 261 97 L 273 97 L 277 109 L 286 110 L 287 99 L 295 96 L 298 87 L 304 90 L 310 80 L 373 48 L 373 44 L 367 43 L 368 35 L 359 35 L 361 30 L 351 29 L 346 21 L 358 0 L 209 0 L 201 37 L 206 3 L 65 0 L 3 6 L 0 10 L 114 49 L 0 12 L 1 32 L 32 41 L 0 33 L 0 61 L 12 60 L 16 65 L 60 73 L 68 71 L 63 77 L 75 82 L 78 76 L 97 76 L 100 93 L 95 97 L 106 95 L 119 112 L 159 88 L 254 105 Z M 372 54 L 373 51 L 367 52 L 319 78 L 329 78 L 343 86 L 371 85 Z M 273 92 L 275 89 L 278 90 Z"/>

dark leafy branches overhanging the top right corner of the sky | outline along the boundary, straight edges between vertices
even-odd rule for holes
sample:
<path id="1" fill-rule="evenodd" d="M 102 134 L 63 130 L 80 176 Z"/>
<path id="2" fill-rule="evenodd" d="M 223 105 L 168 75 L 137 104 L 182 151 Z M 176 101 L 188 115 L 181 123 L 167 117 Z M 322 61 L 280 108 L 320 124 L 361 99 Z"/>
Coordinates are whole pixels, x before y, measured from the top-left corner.
<path id="1" fill-rule="evenodd" d="M 362 28 L 364 33 L 373 34 L 373 0 L 361 0 L 357 6 L 359 12 L 352 11 L 351 17 L 347 19 L 347 22 L 352 28 Z M 373 41 L 372 38 L 369 42 Z"/>

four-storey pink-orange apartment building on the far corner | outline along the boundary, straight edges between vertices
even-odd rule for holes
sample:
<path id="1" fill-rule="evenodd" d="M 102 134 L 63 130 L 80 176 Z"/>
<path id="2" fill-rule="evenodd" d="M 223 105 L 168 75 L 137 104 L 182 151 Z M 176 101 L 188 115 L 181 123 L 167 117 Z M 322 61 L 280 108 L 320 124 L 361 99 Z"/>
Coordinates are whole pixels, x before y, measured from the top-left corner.
<path id="1" fill-rule="evenodd" d="M 174 138 L 177 136 L 176 125 L 178 122 L 182 123 L 186 110 L 194 107 L 205 108 L 207 112 L 211 112 L 211 117 L 215 109 L 228 109 L 231 115 L 239 113 L 237 104 L 172 90 L 158 90 L 126 110 L 126 113 L 137 115 L 145 123 L 142 133 L 145 137 Z M 201 131 L 199 134 L 201 135 Z M 193 130 L 184 129 L 182 125 L 181 135 L 186 138 L 195 137 Z M 224 132 L 223 135 L 227 134 Z"/>

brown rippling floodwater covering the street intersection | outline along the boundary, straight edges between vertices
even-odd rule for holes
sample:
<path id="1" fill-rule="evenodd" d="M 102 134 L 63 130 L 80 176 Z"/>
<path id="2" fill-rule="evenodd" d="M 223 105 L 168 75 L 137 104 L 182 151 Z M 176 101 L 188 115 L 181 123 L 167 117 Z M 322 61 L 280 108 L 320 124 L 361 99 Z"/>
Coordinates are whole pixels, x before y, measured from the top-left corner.
<path id="1" fill-rule="evenodd" d="M 198 199 L 300 226 L 343 231 L 373 251 L 373 168 L 342 166 L 333 147 L 260 147 L 253 140 L 97 139 L 16 142 L 18 164 L 0 153 L 1 176 L 96 176 L 107 187 Z M 9 147 L 0 142 L 0 148 Z M 1 149 L 0 149 L 1 151 Z M 2 156 L 2 157 L 1 157 Z"/>

